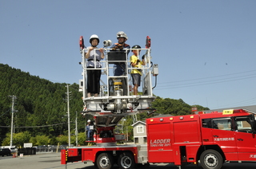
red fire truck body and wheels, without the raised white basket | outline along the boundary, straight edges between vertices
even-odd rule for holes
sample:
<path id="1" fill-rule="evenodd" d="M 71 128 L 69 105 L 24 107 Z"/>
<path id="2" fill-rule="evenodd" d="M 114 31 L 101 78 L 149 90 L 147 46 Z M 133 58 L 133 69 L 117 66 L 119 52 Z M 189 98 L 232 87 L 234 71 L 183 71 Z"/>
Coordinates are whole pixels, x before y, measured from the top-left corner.
<path id="1" fill-rule="evenodd" d="M 146 120 L 146 145 L 99 144 L 62 150 L 62 164 L 91 161 L 96 167 L 122 169 L 135 164 L 200 163 L 219 169 L 222 163 L 256 162 L 255 114 L 243 109 Z"/>

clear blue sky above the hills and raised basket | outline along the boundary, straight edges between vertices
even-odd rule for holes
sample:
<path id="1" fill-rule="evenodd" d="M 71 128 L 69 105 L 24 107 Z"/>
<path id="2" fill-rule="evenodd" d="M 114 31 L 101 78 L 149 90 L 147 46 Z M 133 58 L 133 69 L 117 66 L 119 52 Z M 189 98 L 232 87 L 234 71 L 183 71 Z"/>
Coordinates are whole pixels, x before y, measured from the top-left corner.
<path id="1" fill-rule="evenodd" d="M 154 94 L 211 109 L 256 104 L 256 1 L 0 0 L 0 63 L 56 83 L 82 78 L 79 37 L 145 45 Z M 140 90 L 140 88 L 139 88 Z"/>

